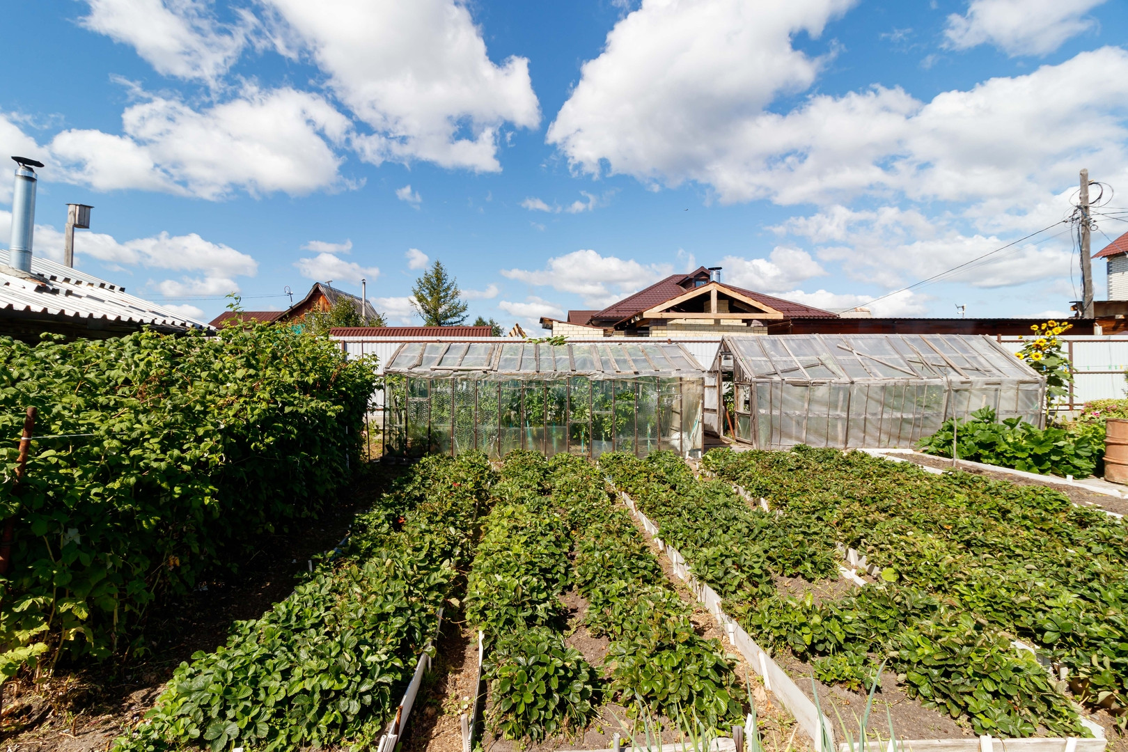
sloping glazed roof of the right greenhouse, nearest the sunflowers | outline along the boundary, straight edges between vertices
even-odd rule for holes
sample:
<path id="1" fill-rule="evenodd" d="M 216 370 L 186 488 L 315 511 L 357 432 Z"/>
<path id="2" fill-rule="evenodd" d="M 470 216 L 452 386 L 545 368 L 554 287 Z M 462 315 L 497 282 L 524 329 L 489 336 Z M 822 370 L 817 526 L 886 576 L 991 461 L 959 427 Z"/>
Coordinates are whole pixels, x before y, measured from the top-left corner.
<path id="1" fill-rule="evenodd" d="M 794 381 L 1019 379 L 1039 373 L 984 335 L 800 334 L 724 337 L 746 378 Z"/>

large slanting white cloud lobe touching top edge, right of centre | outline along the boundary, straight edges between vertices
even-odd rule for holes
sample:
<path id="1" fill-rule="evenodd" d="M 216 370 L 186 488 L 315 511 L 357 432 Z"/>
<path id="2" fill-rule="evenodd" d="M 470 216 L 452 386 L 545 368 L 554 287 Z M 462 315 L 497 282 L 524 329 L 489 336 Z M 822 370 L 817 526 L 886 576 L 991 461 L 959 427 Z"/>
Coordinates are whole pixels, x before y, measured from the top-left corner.
<path id="1" fill-rule="evenodd" d="M 748 121 L 779 92 L 807 89 L 821 61 L 792 47 L 817 37 L 851 0 L 645 0 L 615 25 L 602 54 L 548 129 L 549 143 L 589 172 L 670 184 L 750 141 Z"/>

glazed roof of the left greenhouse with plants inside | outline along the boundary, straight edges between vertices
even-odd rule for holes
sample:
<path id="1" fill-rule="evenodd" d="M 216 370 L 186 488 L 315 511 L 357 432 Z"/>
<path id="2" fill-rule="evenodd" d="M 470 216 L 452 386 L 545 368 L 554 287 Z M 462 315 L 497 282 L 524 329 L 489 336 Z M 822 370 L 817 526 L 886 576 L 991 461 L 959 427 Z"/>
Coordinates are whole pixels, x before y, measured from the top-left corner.
<path id="1" fill-rule="evenodd" d="M 678 343 L 405 343 L 386 374 L 431 378 L 592 379 L 700 378 L 703 369 Z"/>

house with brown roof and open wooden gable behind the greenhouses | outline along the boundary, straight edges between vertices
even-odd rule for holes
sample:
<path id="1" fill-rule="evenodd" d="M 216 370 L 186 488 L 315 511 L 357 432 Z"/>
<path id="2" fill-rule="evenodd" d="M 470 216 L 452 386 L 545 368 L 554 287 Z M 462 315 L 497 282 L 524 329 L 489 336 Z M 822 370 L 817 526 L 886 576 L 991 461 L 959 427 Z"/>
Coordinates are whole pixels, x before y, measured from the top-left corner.
<path id="1" fill-rule="evenodd" d="M 837 319 L 838 313 L 721 282 L 721 268 L 671 274 L 599 311 L 540 319 L 553 336 L 669 337 L 768 334 L 793 318 Z"/>

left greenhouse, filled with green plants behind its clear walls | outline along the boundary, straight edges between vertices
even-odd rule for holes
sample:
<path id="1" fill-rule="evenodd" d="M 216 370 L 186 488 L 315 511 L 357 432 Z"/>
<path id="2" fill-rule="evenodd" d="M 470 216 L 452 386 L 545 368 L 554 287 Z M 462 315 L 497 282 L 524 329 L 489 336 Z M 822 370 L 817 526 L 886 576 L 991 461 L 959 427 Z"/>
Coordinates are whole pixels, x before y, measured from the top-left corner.
<path id="1" fill-rule="evenodd" d="M 704 372 L 676 343 L 406 343 L 385 389 L 390 454 L 702 450 Z"/>

